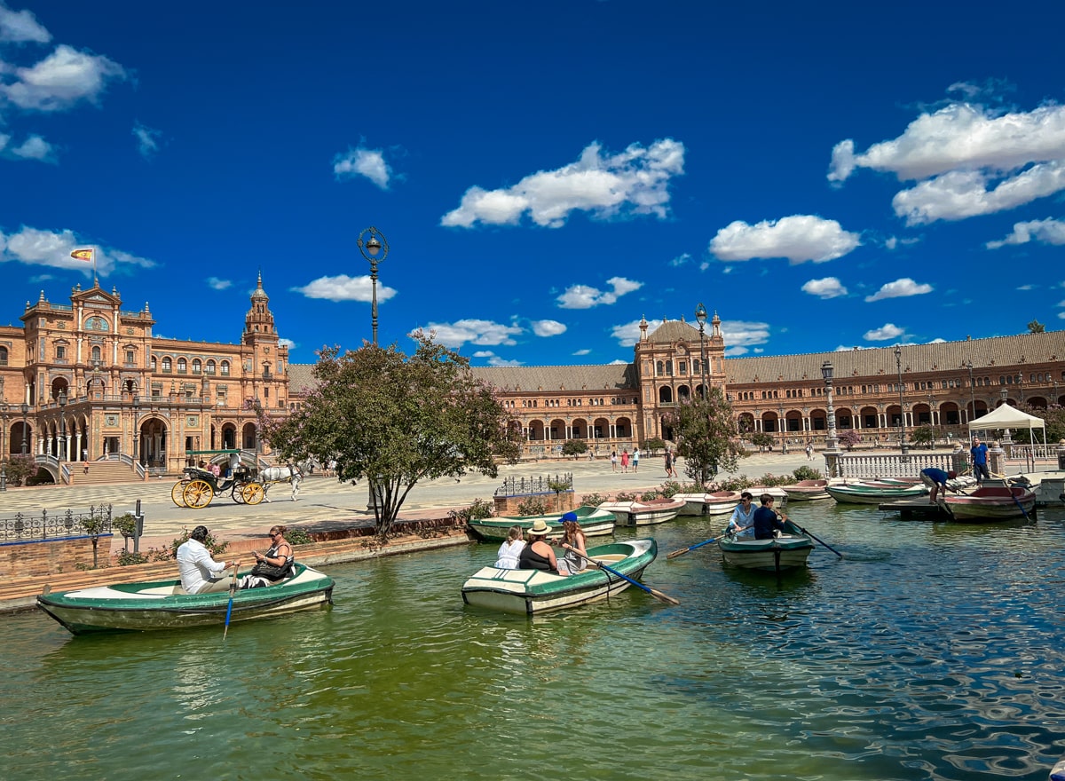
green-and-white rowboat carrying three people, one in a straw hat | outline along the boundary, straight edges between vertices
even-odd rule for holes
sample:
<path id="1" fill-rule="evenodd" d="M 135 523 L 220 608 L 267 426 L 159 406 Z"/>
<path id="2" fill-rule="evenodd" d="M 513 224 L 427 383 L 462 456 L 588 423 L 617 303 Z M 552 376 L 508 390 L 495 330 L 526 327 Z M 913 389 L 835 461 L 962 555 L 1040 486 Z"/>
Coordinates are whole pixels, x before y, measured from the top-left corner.
<path id="1" fill-rule="evenodd" d="M 639 577 L 655 560 L 653 539 L 611 542 L 588 549 L 588 554 L 628 577 Z M 462 584 L 462 601 L 526 616 L 540 615 L 597 602 L 624 591 L 628 581 L 594 567 L 575 575 L 553 575 L 542 570 L 484 567 Z"/>

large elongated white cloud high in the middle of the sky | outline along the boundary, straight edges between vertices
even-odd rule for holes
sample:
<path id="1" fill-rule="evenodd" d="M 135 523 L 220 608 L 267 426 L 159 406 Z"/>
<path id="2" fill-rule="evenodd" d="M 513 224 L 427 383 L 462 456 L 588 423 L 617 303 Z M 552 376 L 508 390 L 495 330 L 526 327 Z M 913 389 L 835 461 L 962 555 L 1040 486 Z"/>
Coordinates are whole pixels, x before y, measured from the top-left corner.
<path id="1" fill-rule="evenodd" d="M 602 152 L 602 146 L 592 143 L 576 162 L 530 174 L 513 186 L 472 186 L 440 224 L 460 228 L 478 222 L 517 225 L 528 214 L 537 225 L 559 228 L 574 211 L 599 219 L 639 214 L 665 218 L 670 180 L 684 174 L 684 144 L 665 139 L 646 148 L 632 144 L 617 154 Z"/>

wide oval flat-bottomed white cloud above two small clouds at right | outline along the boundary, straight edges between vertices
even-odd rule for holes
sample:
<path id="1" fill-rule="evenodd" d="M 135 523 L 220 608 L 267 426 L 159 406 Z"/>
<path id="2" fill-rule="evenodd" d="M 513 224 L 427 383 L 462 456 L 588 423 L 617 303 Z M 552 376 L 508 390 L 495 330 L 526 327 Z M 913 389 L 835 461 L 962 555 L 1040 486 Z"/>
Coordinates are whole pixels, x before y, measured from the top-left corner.
<path id="1" fill-rule="evenodd" d="M 862 245 L 857 233 L 843 230 L 835 219 L 794 214 L 748 225 L 736 221 L 718 231 L 709 250 L 719 260 L 787 258 L 791 263 L 823 263 L 841 258 Z"/>

